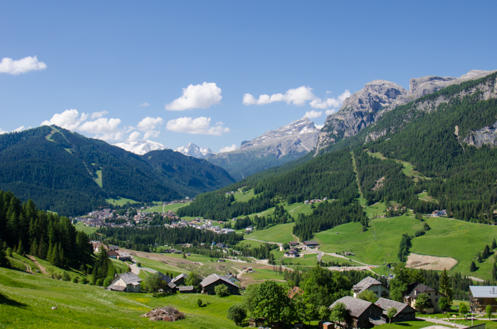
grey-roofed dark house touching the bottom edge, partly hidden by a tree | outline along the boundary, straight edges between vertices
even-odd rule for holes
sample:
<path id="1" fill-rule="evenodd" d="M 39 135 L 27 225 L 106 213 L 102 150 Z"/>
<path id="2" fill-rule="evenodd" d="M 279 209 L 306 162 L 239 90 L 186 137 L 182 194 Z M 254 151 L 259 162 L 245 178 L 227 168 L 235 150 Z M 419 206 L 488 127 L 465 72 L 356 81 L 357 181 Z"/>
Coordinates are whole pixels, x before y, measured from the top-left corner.
<path id="1" fill-rule="evenodd" d="M 345 296 L 332 303 L 329 309 L 334 308 L 337 303 L 344 303 L 345 308 L 350 311 L 350 318 L 346 320 L 346 323 L 342 323 L 342 325 L 352 328 L 372 328 L 375 325 L 386 323 L 382 319 L 383 308 L 369 301 Z"/>

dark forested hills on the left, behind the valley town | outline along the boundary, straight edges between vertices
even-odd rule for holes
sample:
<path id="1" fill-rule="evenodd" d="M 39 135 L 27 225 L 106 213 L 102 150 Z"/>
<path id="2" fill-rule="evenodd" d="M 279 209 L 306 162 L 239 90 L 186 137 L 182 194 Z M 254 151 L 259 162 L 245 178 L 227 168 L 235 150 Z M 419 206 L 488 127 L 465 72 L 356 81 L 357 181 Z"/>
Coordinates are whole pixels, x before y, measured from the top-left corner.
<path id="1" fill-rule="evenodd" d="M 56 126 L 0 135 L 0 189 L 77 215 L 107 198 L 168 201 L 234 182 L 224 169 L 171 152 L 135 155 Z"/>

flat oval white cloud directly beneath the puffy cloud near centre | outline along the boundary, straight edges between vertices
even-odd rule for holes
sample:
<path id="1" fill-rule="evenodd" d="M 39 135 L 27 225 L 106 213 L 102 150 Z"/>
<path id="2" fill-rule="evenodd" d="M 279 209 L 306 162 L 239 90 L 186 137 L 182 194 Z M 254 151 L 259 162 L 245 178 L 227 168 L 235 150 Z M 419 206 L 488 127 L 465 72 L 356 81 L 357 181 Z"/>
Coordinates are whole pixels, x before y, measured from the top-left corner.
<path id="1" fill-rule="evenodd" d="M 216 123 L 215 126 L 210 126 L 211 118 L 177 118 L 168 121 L 166 129 L 175 131 L 176 133 L 191 133 L 194 135 L 215 135 L 219 136 L 223 133 L 229 133 L 229 128 L 224 127 L 222 121 Z"/>

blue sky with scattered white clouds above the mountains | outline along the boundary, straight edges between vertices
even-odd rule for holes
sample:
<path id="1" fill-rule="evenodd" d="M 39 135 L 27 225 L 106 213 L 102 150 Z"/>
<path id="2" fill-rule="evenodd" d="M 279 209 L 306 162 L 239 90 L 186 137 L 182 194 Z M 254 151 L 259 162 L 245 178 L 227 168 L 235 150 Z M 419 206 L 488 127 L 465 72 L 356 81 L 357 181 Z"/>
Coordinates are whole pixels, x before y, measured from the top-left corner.
<path id="1" fill-rule="evenodd" d="M 373 79 L 497 69 L 496 1 L 75 2 L 0 1 L 1 131 L 219 152 Z"/>

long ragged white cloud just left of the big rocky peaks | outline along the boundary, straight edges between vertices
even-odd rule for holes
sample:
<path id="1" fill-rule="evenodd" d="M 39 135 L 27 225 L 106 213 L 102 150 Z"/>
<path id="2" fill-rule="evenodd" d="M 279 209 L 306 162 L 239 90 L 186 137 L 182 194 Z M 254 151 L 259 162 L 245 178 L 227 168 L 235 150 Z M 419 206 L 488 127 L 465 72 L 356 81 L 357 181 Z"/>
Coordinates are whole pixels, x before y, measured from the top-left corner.
<path id="1" fill-rule="evenodd" d="M 327 91 L 326 93 L 328 94 L 329 92 L 330 91 Z M 245 105 L 265 105 L 271 104 L 275 101 L 285 101 L 287 104 L 302 106 L 306 104 L 307 101 L 310 101 L 309 105 L 312 108 L 324 110 L 330 107 L 337 108 L 339 106 L 342 106 L 344 99 L 346 99 L 350 95 L 350 91 L 346 90 L 343 94 L 338 96 L 337 99 L 328 97 L 322 100 L 312 93 L 312 88 L 302 86 L 295 89 L 288 89 L 285 94 L 272 94 L 271 96 L 263 94 L 260 95 L 258 99 L 256 99 L 251 94 L 244 94 L 243 103 Z M 314 112 L 314 114 L 316 113 L 319 112 Z"/>

